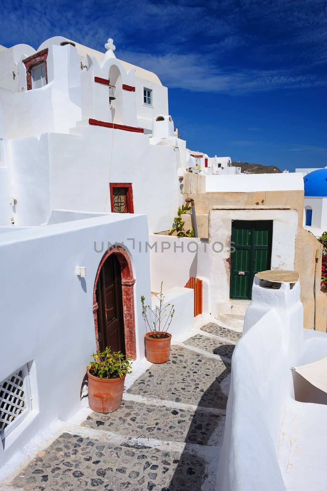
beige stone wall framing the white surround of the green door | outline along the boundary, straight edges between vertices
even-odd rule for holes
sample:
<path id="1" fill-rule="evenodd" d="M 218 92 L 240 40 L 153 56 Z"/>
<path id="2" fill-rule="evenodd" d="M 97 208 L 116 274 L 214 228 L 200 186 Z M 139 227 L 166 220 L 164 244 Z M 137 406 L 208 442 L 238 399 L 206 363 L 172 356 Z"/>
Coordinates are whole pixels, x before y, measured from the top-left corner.
<path id="1" fill-rule="evenodd" d="M 300 274 L 301 301 L 304 307 L 304 327 L 314 325 L 314 270 L 316 249 L 320 243 L 302 228 L 303 191 L 205 192 L 205 176 L 185 175 L 184 199 L 194 199 L 199 237 L 208 238 L 209 211 L 215 206 L 290 206 L 298 212 L 299 229 L 295 245 L 294 269 Z M 263 203 L 262 203 L 263 200 Z M 191 216 L 185 216 L 185 226 L 191 228 Z M 317 264 L 317 330 L 326 332 L 327 296 L 320 291 L 321 259 Z"/>

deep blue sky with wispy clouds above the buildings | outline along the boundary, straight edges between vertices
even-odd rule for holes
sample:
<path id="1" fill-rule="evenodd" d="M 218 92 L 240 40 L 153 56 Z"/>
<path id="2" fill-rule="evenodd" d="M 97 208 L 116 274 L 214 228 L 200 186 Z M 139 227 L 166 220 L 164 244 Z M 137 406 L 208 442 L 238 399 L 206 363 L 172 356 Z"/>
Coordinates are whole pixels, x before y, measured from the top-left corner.
<path id="1" fill-rule="evenodd" d="M 192 150 L 327 165 L 326 0 L 0 0 L 0 44 L 62 35 L 154 71 Z"/>

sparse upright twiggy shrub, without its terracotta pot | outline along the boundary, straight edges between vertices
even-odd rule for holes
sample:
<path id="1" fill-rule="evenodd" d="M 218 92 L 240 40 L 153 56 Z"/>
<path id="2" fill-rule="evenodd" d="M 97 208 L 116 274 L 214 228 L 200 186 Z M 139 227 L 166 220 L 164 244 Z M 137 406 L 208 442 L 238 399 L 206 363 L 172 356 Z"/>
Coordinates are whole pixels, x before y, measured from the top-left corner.
<path id="1" fill-rule="evenodd" d="M 170 303 L 164 306 L 163 282 L 161 282 L 160 293 L 156 297 L 159 300 L 159 305 L 156 305 L 154 309 L 150 305 L 145 305 L 145 298 L 143 296 L 141 297 L 142 315 L 150 329 L 151 336 L 162 339 L 166 337 L 175 309 L 174 305 L 170 305 Z"/>

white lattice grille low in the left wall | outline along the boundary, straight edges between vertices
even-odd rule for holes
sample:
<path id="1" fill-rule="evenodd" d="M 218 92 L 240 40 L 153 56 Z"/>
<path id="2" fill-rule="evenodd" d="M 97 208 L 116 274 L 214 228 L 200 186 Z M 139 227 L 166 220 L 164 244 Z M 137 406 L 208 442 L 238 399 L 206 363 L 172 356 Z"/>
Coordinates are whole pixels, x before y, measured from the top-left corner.
<path id="1" fill-rule="evenodd" d="M 26 383 L 25 379 L 27 379 Z M 27 383 L 28 390 L 26 390 Z M 26 365 L 18 370 L 16 373 L 12 374 L 7 380 L 0 383 L 1 439 L 7 436 L 8 433 L 10 433 L 28 413 L 28 398 L 30 399 L 28 370 Z"/>

